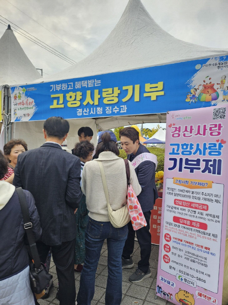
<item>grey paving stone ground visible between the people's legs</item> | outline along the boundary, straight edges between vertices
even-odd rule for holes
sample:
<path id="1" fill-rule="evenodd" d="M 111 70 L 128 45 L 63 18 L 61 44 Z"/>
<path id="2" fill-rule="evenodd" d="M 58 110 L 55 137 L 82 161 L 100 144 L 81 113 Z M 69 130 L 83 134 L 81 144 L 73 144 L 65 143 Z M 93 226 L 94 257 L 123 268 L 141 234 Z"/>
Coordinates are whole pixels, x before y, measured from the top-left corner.
<path id="1" fill-rule="evenodd" d="M 152 245 L 150 268 L 151 277 L 145 279 L 140 283 L 129 282 L 129 276 L 135 271 L 137 262 L 140 260 L 140 248 L 137 241 L 135 241 L 135 248 L 132 255 L 135 266 L 131 269 L 123 269 L 123 284 L 122 284 L 122 302 L 121 305 L 169 305 L 173 304 L 161 297 L 156 297 L 156 277 L 157 277 L 157 264 L 158 264 L 158 251 L 159 246 Z M 45 300 L 38 300 L 40 305 L 59 305 L 56 299 L 56 292 L 58 287 L 58 279 L 56 268 L 51 261 L 50 273 L 53 275 L 53 287 L 50 290 L 50 295 Z M 91 305 L 105 304 L 105 287 L 107 282 L 108 269 L 107 269 L 107 243 L 104 242 L 101 257 L 99 260 L 96 280 L 95 280 L 95 294 Z M 80 273 L 75 272 L 75 287 L 76 293 L 79 289 Z"/>

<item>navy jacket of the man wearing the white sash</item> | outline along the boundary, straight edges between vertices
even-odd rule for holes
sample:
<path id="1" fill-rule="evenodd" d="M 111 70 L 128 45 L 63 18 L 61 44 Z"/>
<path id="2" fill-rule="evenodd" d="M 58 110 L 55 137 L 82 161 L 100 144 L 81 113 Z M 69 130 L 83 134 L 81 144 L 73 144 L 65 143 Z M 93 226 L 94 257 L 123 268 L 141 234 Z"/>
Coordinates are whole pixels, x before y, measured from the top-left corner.
<path id="1" fill-rule="evenodd" d="M 127 156 L 127 159 L 132 162 L 134 158 L 143 152 L 149 152 L 149 150 L 140 144 L 136 154 L 134 155 L 131 153 Z M 155 169 L 155 164 L 149 160 L 143 161 L 135 168 L 139 184 L 142 188 L 142 191 L 137 198 L 143 212 L 152 210 L 155 200 L 158 198 L 155 184 Z"/>

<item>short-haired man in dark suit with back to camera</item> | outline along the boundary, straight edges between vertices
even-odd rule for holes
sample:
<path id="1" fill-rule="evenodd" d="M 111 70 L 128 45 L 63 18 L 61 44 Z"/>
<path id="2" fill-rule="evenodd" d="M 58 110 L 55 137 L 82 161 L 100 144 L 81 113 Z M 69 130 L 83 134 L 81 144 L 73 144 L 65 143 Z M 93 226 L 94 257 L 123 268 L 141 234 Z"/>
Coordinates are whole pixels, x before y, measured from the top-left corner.
<path id="1" fill-rule="evenodd" d="M 18 156 L 13 184 L 29 190 L 40 215 L 42 236 L 37 249 L 42 263 L 52 248 L 60 305 L 75 305 L 75 212 L 80 202 L 80 159 L 62 149 L 69 123 L 52 116 L 43 125 L 46 142 Z"/>

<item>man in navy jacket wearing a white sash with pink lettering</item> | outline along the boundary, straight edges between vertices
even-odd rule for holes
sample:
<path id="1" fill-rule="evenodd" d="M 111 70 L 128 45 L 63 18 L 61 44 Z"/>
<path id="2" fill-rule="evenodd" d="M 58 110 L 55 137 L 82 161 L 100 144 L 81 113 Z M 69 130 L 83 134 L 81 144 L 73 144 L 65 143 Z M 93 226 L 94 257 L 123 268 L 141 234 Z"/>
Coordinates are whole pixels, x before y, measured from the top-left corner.
<path id="1" fill-rule="evenodd" d="M 139 133 L 133 127 L 126 127 L 119 133 L 121 146 L 127 154 L 127 159 L 135 168 L 135 172 L 142 188 L 137 196 L 143 214 L 146 218 L 146 227 L 136 230 L 136 236 L 140 245 L 141 260 L 138 262 L 136 271 L 129 277 L 133 283 L 141 282 L 143 279 L 151 276 L 149 268 L 149 258 L 151 255 L 151 233 L 150 217 L 155 200 L 157 199 L 157 189 L 155 185 L 155 170 L 157 158 L 149 150 L 140 144 Z M 131 254 L 134 250 L 135 231 L 131 222 L 128 223 L 128 237 L 122 253 L 122 268 L 132 268 L 134 262 Z"/>

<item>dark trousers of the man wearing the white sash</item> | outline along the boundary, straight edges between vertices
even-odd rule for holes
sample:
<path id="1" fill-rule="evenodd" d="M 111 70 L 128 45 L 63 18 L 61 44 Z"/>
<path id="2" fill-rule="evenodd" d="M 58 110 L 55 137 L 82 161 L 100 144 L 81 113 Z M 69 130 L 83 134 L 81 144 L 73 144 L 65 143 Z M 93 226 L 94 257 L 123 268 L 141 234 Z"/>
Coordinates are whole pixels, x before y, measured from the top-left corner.
<path id="1" fill-rule="evenodd" d="M 151 255 L 151 233 L 150 233 L 150 218 L 151 211 L 143 212 L 146 218 L 146 227 L 134 231 L 131 221 L 128 223 L 128 236 L 123 248 L 123 258 L 130 259 L 134 251 L 135 232 L 140 246 L 141 260 L 138 262 L 138 268 L 146 273 L 150 266 L 149 259 Z"/>

